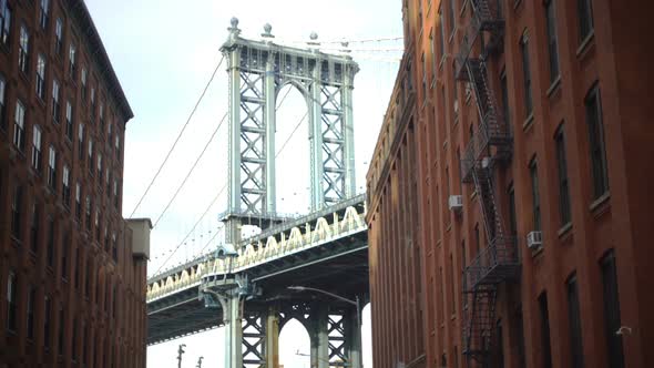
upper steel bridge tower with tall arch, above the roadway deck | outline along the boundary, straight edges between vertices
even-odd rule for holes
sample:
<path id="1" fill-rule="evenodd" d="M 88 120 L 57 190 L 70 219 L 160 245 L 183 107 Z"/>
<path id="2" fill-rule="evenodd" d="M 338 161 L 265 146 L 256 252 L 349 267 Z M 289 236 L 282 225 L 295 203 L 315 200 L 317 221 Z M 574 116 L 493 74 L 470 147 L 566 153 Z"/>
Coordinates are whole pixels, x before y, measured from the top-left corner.
<path id="1" fill-rule="evenodd" d="M 276 100 L 290 84 L 308 110 L 311 211 L 355 195 L 352 88 L 359 68 L 351 57 L 242 38 L 233 19 L 221 51 L 228 61 L 227 243 L 247 221 L 270 224 L 275 198 Z"/>

